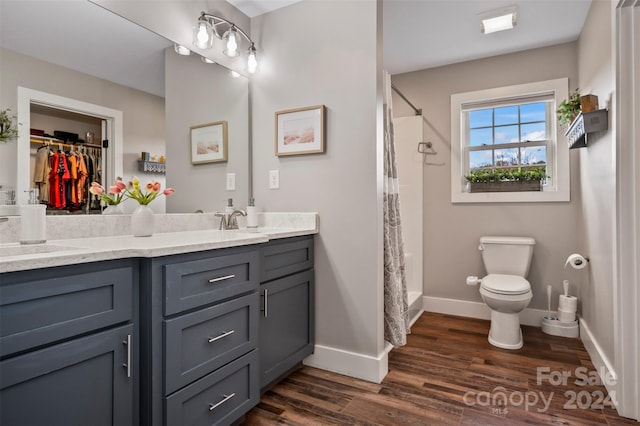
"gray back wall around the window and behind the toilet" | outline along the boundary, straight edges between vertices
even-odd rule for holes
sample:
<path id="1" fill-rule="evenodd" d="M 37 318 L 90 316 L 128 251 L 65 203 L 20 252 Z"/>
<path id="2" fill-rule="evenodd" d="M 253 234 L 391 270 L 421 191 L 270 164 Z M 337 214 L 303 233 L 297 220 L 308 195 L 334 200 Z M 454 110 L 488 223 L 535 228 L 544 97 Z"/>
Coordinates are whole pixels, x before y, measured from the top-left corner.
<path id="1" fill-rule="evenodd" d="M 529 272 L 533 290 L 530 308 L 546 309 L 546 286 L 551 284 L 557 295 L 562 280 L 571 278 L 563 266 L 567 256 L 578 249 L 578 153 L 570 154 L 571 202 L 452 204 L 450 96 L 562 77 L 568 77 L 570 87 L 575 89 L 577 53 L 576 43 L 568 43 L 392 77 L 400 91 L 423 109 L 425 140 L 432 141 L 439 153 L 429 160 L 445 163 L 424 169 L 425 296 L 482 302 L 478 288 L 465 285 L 468 275 L 485 273 L 477 249 L 482 235 L 536 239 Z M 413 115 L 397 95 L 393 105 L 396 117 Z M 571 288 L 574 291 L 576 285 Z M 556 308 L 557 297 L 554 299 Z"/>

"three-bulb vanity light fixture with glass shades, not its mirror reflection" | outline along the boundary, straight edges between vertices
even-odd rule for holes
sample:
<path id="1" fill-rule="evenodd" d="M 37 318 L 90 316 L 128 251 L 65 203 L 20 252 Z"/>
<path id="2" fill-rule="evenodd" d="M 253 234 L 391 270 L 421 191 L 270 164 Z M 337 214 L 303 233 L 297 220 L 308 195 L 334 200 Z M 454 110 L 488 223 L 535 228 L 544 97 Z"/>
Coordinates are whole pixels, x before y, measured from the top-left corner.
<path id="1" fill-rule="evenodd" d="M 221 25 L 223 27 L 218 28 Z M 222 32 L 221 29 L 225 31 Z M 220 35 L 221 33 L 222 35 Z M 258 71 L 255 43 L 247 33 L 233 22 L 216 15 L 201 12 L 193 29 L 193 44 L 199 49 L 210 49 L 213 47 L 214 36 L 224 41 L 225 48 L 222 53 L 232 58 L 240 55 L 240 45 L 244 37 L 250 44 L 247 52 L 247 71 L 250 74 L 255 74 Z"/>

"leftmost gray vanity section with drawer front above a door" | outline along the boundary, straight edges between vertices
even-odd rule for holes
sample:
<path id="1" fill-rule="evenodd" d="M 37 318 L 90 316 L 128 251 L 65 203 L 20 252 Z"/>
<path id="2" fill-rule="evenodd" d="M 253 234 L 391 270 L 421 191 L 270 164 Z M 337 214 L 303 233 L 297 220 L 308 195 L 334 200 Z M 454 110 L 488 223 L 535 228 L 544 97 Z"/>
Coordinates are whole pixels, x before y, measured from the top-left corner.
<path id="1" fill-rule="evenodd" d="M 0 424 L 138 424 L 135 260 L 0 276 Z"/>

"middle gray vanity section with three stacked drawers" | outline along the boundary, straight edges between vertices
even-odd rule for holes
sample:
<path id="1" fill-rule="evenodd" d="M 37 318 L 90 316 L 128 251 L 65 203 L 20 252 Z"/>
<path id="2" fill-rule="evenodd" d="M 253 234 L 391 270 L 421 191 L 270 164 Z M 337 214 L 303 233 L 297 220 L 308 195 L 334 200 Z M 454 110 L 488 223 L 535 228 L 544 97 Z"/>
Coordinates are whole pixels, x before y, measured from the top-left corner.
<path id="1" fill-rule="evenodd" d="M 259 402 L 257 250 L 142 260 L 143 425 L 228 425 Z"/>

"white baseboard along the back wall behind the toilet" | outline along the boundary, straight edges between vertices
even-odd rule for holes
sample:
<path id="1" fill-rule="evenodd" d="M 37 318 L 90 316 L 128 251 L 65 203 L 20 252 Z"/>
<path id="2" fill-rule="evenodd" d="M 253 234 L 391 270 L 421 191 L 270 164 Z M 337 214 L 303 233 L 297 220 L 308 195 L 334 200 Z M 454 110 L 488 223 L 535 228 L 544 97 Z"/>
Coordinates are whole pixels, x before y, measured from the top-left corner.
<path id="1" fill-rule="evenodd" d="M 422 307 L 427 312 L 435 312 L 438 314 L 486 320 L 491 319 L 491 309 L 489 309 L 484 302 L 469 302 L 466 300 L 423 296 Z M 542 318 L 547 315 L 548 312 L 546 310 L 527 308 L 520 312 L 520 324 L 540 327 L 542 325 Z"/>

